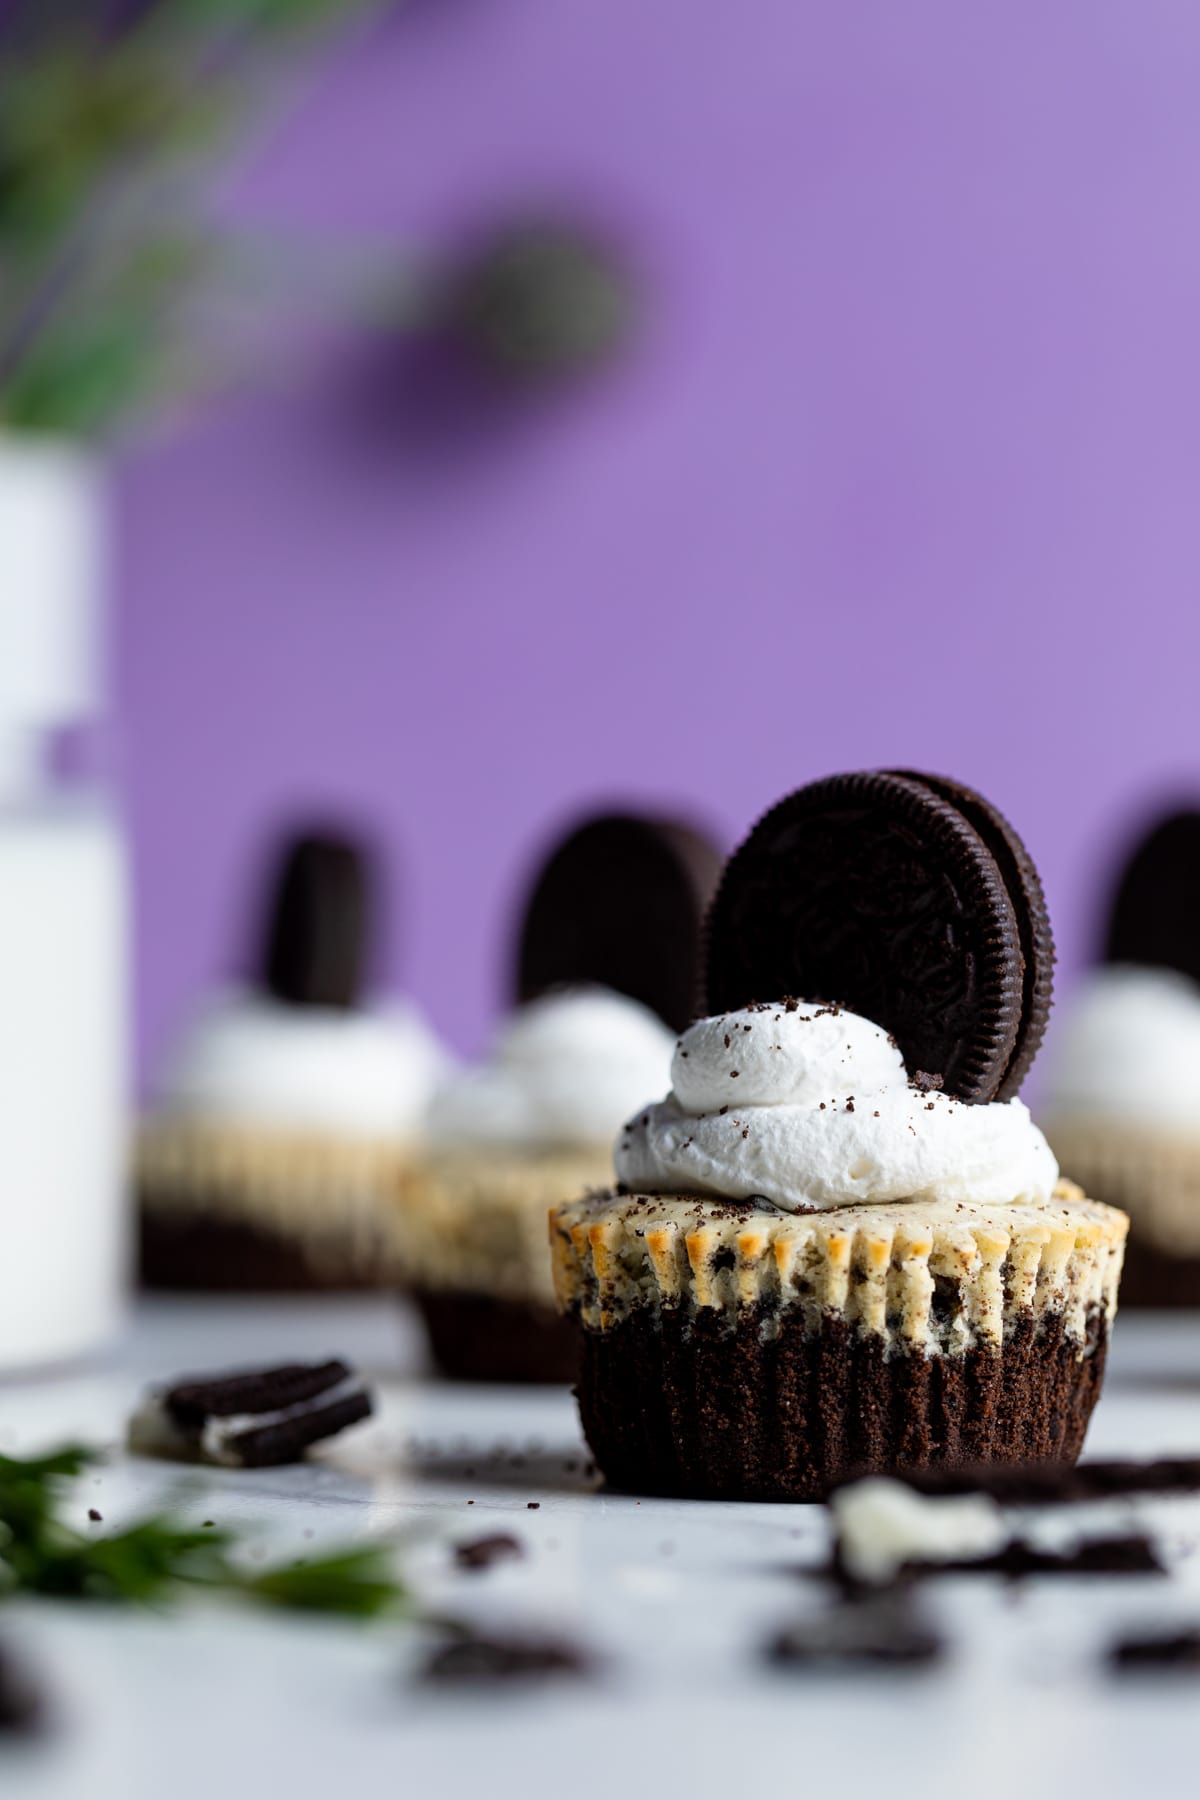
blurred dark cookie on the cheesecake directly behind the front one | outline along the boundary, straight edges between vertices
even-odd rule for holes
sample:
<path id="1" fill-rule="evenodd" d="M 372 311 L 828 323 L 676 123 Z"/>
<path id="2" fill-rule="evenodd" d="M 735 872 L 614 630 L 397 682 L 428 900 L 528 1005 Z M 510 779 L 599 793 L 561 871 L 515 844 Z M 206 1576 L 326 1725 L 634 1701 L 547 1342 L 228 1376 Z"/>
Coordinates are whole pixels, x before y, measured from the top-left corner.
<path id="1" fill-rule="evenodd" d="M 696 1015 L 703 914 L 721 857 L 689 824 L 610 812 L 549 853 L 522 914 L 516 1001 L 596 983 L 673 1031 Z"/>

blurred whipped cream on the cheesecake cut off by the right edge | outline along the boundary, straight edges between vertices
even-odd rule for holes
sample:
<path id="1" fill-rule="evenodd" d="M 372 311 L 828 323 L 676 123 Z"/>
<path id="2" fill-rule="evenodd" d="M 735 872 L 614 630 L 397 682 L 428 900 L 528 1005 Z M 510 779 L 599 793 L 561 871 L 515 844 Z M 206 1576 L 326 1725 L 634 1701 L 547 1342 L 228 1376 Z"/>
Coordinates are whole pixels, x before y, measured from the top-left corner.
<path id="1" fill-rule="evenodd" d="M 1200 988 L 1173 968 L 1085 977 L 1047 1046 L 1043 1114 L 1200 1134 Z"/>

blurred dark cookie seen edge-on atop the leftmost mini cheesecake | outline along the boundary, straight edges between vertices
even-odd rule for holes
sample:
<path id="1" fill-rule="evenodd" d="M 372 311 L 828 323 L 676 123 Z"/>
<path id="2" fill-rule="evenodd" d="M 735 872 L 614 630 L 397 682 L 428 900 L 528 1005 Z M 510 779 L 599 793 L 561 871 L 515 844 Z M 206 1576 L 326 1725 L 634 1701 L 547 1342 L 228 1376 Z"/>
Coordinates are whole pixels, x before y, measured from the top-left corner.
<path id="1" fill-rule="evenodd" d="M 365 851 L 333 832 L 304 832 L 270 884 L 259 981 L 286 1006 L 349 1012 L 363 994 L 371 927 Z"/>

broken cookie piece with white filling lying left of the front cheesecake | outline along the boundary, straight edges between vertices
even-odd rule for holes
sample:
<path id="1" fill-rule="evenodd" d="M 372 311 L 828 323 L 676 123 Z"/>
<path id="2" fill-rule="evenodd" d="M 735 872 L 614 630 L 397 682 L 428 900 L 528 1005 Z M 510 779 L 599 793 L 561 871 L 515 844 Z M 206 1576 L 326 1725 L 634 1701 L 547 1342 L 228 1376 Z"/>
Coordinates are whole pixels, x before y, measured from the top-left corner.
<path id="1" fill-rule="evenodd" d="M 369 1418 L 371 1395 L 340 1361 L 193 1375 L 146 1397 L 130 1420 L 144 1456 L 266 1469 Z"/>

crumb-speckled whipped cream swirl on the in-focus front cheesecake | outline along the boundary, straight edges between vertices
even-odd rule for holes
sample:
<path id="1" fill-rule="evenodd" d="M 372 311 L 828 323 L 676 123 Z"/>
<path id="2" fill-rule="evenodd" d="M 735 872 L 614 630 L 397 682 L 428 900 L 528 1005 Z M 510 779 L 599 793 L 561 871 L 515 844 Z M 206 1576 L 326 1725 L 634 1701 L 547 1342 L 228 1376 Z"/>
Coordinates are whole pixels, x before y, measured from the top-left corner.
<path id="1" fill-rule="evenodd" d="M 765 1199 L 799 1213 L 880 1201 L 1049 1201 L 1058 1165 L 1020 1100 L 966 1105 L 909 1080 L 894 1040 L 831 1006 L 702 1019 L 673 1089 L 617 1138 L 635 1193 Z"/>

